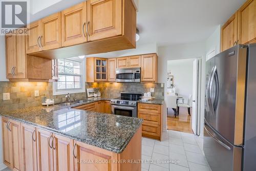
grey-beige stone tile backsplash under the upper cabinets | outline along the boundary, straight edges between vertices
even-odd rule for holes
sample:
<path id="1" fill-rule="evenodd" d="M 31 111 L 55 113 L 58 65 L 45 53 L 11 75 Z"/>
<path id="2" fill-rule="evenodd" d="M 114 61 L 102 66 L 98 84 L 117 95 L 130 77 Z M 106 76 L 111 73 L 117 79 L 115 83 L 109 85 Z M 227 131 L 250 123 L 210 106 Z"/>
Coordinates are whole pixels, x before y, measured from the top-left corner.
<path id="1" fill-rule="evenodd" d="M 144 93 L 150 88 L 155 88 L 152 96 L 158 99 L 164 98 L 164 88 L 160 83 L 86 83 L 86 88 L 99 88 L 101 96 L 119 97 L 120 92 Z M 39 91 L 39 97 L 35 97 L 34 91 Z M 3 100 L 3 93 L 10 93 L 10 100 Z M 68 92 L 67 92 L 68 93 Z M 52 82 L 0 82 L 0 111 L 13 111 L 41 105 L 42 95 L 53 98 L 55 103 L 66 101 L 65 95 L 53 96 Z M 87 93 L 71 94 L 71 99 L 76 95 L 77 99 L 87 98 Z"/>

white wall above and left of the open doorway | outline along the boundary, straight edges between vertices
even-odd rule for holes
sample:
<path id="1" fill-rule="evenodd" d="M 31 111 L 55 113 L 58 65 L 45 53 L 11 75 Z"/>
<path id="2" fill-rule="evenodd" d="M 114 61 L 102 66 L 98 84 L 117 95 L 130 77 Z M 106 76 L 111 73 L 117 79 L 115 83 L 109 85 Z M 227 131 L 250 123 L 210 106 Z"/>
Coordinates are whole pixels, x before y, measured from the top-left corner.
<path id="1" fill-rule="evenodd" d="M 191 42 L 189 44 L 158 47 L 158 82 L 167 83 L 167 61 L 172 59 L 198 58 L 205 55 L 205 41 Z M 166 87 L 163 105 L 163 131 L 166 131 Z"/>

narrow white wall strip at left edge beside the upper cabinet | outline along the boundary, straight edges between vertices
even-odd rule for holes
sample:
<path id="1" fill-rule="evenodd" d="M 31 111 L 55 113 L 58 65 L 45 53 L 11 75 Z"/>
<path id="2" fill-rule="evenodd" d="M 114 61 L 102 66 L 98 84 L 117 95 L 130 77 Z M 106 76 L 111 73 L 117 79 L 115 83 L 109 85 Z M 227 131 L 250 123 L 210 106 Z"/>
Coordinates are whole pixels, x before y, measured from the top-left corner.
<path id="1" fill-rule="evenodd" d="M 8 81 L 5 63 L 5 36 L 0 36 L 0 81 Z"/>

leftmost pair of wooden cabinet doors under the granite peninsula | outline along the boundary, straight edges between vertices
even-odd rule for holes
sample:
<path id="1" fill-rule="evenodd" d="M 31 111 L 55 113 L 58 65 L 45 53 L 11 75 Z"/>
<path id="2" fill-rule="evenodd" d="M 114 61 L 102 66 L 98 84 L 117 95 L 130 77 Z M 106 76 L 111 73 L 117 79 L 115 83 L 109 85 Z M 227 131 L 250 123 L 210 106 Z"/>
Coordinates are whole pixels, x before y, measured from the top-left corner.
<path id="1" fill-rule="evenodd" d="M 12 170 L 23 170 L 20 123 L 6 118 L 2 122 L 4 163 Z"/>

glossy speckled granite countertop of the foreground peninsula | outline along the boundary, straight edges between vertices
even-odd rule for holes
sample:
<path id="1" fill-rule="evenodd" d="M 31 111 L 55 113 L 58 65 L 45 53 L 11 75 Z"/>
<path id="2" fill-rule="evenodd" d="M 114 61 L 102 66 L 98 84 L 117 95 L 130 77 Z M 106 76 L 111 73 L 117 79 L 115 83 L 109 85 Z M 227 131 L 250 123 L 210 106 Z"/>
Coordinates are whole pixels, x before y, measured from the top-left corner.
<path id="1" fill-rule="evenodd" d="M 92 100 L 90 102 L 110 100 L 103 97 L 89 99 Z M 123 152 L 143 121 L 133 117 L 76 110 L 57 104 L 0 112 L 0 115 L 115 153 Z"/>

